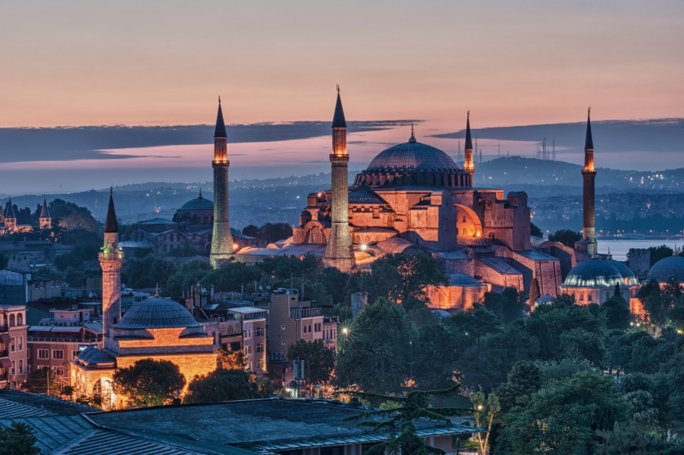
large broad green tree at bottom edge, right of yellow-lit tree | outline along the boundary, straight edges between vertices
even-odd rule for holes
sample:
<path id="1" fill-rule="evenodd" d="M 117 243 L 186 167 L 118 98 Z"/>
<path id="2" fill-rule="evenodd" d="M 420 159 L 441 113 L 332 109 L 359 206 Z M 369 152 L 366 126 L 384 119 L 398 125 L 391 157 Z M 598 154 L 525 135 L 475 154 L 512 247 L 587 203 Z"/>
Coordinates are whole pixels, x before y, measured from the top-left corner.
<path id="1" fill-rule="evenodd" d="M 597 431 L 628 419 L 630 406 L 611 377 L 577 372 L 534 392 L 524 407 L 504 416 L 497 451 L 513 454 L 593 454 Z"/>

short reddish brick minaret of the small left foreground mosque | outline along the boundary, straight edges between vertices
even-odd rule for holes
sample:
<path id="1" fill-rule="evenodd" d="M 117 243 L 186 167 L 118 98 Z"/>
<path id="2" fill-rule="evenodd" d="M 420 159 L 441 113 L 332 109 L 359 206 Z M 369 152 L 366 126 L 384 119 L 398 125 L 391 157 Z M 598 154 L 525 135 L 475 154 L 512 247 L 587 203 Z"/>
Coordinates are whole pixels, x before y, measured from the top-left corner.
<path id="1" fill-rule="evenodd" d="M 114 211 L 113 191 L 109 190 L 109 208 L 105 221 L 105 244 L 100 252 L 102 267 L 102 332 L 105 349 L 113 350 L 113 324 L 121 319 L 121 267 L 123 252 L 119 247 L 119 232 Z"/>

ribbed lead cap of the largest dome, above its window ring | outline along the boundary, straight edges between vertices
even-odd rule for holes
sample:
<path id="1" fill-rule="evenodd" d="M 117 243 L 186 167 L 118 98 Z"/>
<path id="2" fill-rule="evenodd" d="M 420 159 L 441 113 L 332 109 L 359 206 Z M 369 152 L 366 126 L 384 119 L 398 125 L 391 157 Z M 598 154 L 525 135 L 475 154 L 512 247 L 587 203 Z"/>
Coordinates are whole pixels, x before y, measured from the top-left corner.
<path id="1" fill-rule="evenodd" d="M 366 170 L 377 171 L 398 168 L 447 173 L 455 173 L 459 170 L 454 160 L 439 148 L 414 141 L 394 145 L 383 150 L 373 158 Z"/>

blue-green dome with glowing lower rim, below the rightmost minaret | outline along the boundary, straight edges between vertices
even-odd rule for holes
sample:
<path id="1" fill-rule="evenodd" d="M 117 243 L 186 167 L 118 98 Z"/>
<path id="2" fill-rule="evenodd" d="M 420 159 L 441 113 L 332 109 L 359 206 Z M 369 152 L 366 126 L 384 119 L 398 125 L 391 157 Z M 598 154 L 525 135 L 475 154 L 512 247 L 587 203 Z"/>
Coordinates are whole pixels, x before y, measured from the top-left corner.
<path id="1" fill-rule="evenodd" d="M 611 259 L 590 259 L 572 267 L 563 285 L 566 287 L 614 287 L 637 285 L 634 273 L 624 264 Z"/>

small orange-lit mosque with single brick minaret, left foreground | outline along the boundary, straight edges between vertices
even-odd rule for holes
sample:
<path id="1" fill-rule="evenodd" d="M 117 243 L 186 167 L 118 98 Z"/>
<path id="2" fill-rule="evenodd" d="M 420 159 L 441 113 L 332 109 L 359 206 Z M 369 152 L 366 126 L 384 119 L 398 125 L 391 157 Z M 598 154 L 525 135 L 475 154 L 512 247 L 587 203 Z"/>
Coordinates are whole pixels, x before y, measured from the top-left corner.
<path id="1" fill-rule="evenodd" d="M 71 362 L 71 385 L 78 394 L 103 398 L 103 408 L 117 407 L 112 387 L 118 369 L 141 359 L 167 360 L 180 369 L 187 384 L 196 374 L 216 369 L 214 337 L 186 307 L 174 300 L 148 297 L 121 317 L 120 270 L 124 254 L 118 245 L 114 205 L 105 223 L 105 246 L 100 253 L 103 268 L 103 346 L 88 347 Z"/>

